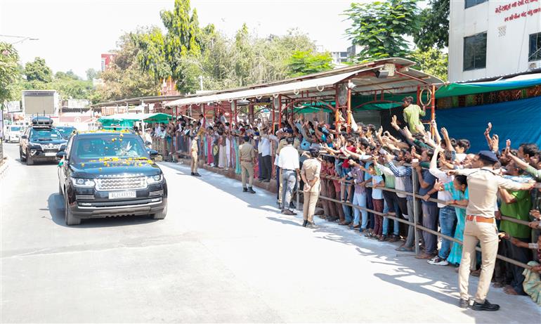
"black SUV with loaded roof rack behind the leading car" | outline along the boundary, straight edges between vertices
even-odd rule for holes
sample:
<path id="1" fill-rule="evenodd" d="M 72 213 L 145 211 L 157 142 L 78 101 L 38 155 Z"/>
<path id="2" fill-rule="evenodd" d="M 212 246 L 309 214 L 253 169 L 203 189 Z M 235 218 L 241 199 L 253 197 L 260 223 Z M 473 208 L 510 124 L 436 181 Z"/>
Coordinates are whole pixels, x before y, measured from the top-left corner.
<path id="1" fill-rule="evenodd" d="M 19 156 L 28 165 L 35 161 L 55 161 L 56 153 L 65 150 L 67 141 L 53 127 L 48 117 L 34 117 L 32 125 L 20 136 Z"/>

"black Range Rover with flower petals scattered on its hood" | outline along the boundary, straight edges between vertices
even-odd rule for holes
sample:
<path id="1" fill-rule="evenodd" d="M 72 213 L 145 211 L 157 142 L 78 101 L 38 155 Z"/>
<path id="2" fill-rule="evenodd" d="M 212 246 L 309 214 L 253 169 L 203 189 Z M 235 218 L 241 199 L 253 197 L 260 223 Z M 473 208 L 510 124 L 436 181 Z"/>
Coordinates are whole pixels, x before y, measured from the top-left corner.
<path id="1" fill-rule="evenodd" d="M 58 191 L 67 225 L 81 219 L 167 214 L 167 183 L 140 136 L 125 131 L 75 134 L 58 153 Z"/>

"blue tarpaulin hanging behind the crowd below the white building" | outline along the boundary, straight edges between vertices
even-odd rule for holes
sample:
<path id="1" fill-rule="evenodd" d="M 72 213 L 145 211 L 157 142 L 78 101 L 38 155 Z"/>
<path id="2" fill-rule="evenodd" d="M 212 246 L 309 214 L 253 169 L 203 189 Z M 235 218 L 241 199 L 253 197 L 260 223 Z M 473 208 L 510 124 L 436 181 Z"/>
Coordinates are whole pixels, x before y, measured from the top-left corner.
<path id="1" fill-rule="evenodd" d="M 519 148 L 521 143 L 541 146 L 541 97 L 437 110 L 436 122 L 438 127 L 448 129 L 450 137 L 469 139 L 469 153 L 488 148 L 483 135 L 488 122 L 493 124 L 491 134 L 500 136 L 500 150 L 508 138 L 511 148 Z"/>

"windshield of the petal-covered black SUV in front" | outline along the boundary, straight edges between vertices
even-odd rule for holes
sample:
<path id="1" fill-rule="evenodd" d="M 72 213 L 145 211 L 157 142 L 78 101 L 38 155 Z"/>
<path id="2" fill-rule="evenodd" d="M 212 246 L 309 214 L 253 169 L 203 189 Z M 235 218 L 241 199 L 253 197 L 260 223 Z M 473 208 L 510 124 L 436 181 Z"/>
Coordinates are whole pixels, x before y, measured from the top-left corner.
<path id="1" fill-rule="evenodd" d="M 139 136 L 103 135 L 77 138 L 73 143 L 71 159 L 77 163 L 104 158 L 145 157 L 148 153 Z"/>

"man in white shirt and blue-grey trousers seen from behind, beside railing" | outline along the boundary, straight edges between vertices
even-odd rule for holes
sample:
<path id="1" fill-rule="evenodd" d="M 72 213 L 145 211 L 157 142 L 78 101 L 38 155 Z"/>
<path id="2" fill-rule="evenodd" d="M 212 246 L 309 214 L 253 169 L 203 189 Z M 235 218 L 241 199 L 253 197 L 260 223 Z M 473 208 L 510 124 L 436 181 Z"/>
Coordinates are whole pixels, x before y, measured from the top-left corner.
<path id="1" fill-rule="evenodd" d="M 278 157 L 278 167 L 282 170 L 282 214 L 296 215 L 291 209 L 289 209 L 289 203 L 291 202 L 291 196 L 297 176 L 299 174 L 299 152 L 293 147 L 293 137 L 286 138 L 286 145 L 280 150 L 280 156 Z"/>

